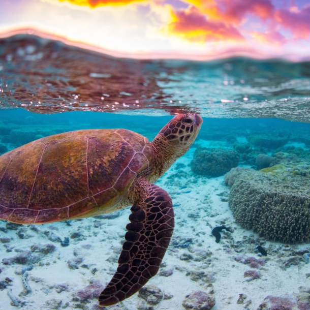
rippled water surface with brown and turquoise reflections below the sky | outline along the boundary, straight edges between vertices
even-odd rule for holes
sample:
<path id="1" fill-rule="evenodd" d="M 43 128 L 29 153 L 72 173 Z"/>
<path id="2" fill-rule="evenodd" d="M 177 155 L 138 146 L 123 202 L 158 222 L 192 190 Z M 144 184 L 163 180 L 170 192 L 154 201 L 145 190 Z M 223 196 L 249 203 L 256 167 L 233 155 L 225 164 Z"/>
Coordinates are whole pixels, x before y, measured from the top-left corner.
<path id="1" fill-rule="evenodd" d="M 2 108 L 310 120 L 310 63 L 114 58 L 18 35 L 0 40 L 0 70 Z"/>

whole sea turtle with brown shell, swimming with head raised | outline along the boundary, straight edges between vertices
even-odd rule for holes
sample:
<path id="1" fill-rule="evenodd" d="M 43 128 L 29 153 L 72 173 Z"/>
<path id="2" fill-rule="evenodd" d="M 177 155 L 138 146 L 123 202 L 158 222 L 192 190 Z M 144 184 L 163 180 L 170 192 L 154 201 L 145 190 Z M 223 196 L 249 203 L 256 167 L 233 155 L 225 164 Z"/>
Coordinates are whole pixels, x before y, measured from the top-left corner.
<path id="1" fill-rule="evenodd" d="M 119 265 L 99 304 L 124 300 L 158 272 L 174 228 L 172 200 L 153 182 L 187 152 L 202 121 L 177 114 L 151 143 L 129 130 L 99 129 L 11 150 L 0 157 L 0 219 L 42 224 L 132 205 Z"/>

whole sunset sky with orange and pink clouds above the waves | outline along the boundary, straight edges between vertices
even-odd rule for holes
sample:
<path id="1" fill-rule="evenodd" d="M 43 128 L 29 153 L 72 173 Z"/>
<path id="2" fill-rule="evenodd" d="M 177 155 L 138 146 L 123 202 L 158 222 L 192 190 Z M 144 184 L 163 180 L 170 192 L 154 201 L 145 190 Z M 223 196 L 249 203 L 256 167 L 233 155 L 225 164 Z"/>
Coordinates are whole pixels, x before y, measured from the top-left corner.
<path id="1" fill-rule="evenodd" d="M 112 55 L 310 58 L 305 0 L 0 0 L 0 35 L 60 38 Z"/>

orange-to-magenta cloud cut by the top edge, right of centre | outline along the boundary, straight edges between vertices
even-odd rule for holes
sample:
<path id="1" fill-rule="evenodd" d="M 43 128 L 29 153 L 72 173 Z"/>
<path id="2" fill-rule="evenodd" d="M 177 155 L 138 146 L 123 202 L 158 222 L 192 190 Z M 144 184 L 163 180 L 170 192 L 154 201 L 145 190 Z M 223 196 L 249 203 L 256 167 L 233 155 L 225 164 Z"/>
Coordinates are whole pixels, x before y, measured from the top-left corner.
<path id="1" fill-rule="evenodd" d="M 266 20 L 273 15 L 274 7 L 270 0 L 184 0 L 195 5 L 200 12 L 211 19 L 240 24 L 247 14 Z"/>

